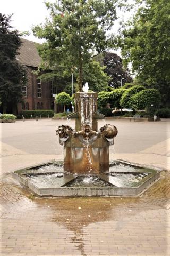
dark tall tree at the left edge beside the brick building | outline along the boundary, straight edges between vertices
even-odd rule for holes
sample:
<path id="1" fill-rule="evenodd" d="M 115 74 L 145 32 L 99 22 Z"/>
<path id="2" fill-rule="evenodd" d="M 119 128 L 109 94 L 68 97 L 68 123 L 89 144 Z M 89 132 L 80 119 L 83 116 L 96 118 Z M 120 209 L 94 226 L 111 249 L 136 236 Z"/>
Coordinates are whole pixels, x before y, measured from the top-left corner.
<path id="1" fill-rule="evenodd" d="M 0 13 L 0 98 L 3 112 L 12 108 L 22 96 L 25 70 L 16 60 L 21 46 L 20 34 L 10 25 L 11 16 Z"/>

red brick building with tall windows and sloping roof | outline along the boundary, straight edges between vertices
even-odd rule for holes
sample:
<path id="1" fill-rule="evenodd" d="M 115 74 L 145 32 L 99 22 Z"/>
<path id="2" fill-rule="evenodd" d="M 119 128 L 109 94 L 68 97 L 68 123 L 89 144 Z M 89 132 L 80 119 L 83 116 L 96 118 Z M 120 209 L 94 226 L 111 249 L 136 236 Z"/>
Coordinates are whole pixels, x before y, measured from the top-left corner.
<path id="1" fill-rule="evenodd" d="M 18 103 L 17 114 L 20 114 L 22 110 L 35 110 L 35 109 L 54 109 L 54 97 L 56 93 L 53 81 L 44 82 L 33 74 L 33 70 L 36 70 L 41 62 L 41 58 L 38 55 L 37 43 L 21 39 L 22 46 L 20 49 L 20 55 L 16 58 L 19 62 L 26 67 L 27 70 L 27 85 L 22 87 L 22 102 Z"/>

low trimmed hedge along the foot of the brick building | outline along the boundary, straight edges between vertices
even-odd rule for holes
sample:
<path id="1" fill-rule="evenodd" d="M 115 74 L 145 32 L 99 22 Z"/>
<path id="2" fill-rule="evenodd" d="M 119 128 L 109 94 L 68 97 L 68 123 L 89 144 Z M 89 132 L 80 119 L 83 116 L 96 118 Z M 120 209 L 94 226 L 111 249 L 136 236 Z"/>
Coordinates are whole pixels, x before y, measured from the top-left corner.
<path id="1" fill-rule="evenodd" d="M 22 110 L 21 115 L 23 115 L 25 118 L 31 118 L 31 115 L 33 118 L 36 116 L 38 117 L 53 117 L 54 116 L 54 110 Z"/>

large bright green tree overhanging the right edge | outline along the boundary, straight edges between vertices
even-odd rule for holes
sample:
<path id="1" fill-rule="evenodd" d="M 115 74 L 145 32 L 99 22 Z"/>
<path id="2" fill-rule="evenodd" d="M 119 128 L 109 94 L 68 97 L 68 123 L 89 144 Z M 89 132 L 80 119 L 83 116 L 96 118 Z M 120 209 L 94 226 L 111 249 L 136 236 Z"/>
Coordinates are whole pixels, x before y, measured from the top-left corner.
<path id="1" fill-rule="evenodd" d="M 162 102 L 170 98 L 170 2 L 136 0 L 137 13 L 123 27 L 120 46 L 140 84 L 158 89 Z"/>

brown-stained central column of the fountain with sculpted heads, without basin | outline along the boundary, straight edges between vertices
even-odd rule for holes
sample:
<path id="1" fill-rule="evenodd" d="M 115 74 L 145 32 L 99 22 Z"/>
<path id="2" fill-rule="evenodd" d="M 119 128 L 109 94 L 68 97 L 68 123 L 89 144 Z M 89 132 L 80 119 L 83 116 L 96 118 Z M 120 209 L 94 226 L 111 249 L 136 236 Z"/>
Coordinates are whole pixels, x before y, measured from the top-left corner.
<path id="1" fill-rule="evenodd" d="M 98 93 L 75 93 L 75 112 L 68 116 L 75 118 L 75 130 L 67 125 L 56 130 L 64 145 L 65 171 L 98 174 L 109 169 L 109 146 L 114 143 L 117 128 L 106 124 L 98 131 L 97 119 L 105 116 L 97 112 L 97 97 Z"/>

